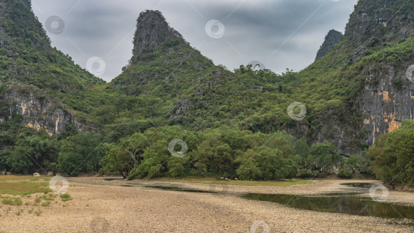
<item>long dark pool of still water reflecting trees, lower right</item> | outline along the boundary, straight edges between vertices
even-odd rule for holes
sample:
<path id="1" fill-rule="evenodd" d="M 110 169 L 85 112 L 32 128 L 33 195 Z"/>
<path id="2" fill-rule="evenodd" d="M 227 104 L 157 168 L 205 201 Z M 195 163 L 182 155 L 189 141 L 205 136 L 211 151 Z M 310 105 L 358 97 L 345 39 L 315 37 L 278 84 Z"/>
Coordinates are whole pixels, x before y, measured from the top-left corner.
<path id="1" fill-rule="evenodd" d="M 380 218 L 414 219 L 414 207 L 389 204 L 372 200 L 361 200 L 359 197 L 313 197 L 277 194 L 248 194 L 247 199 L 271 201 L 293 208 L 311 211 L 342 213 L 350 215 L 371 216 Z"/>

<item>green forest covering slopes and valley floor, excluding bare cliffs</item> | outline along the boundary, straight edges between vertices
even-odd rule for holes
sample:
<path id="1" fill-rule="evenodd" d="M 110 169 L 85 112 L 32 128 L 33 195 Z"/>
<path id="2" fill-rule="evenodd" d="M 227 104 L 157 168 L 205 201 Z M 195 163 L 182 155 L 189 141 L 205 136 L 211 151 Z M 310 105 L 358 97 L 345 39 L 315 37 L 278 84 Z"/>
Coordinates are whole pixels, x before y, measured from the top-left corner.
<path id="1" fill-rule="evenodd" d="M 414 58 L 412 37 L 393 34 L 389 39 L 383 33 L 356 43 L 348 36 L 358 23 L 352 18 L 344 36 L 327 36 L 321 48 L 325 56 L 301 72 L 286 69 L 282 74 L 255 65 L 229 71 L 177 37 L 133 54 L 123 73 L 105 83 L 51 48 L 26 0 L 5 3 L 7 13 L 0 15 L 0 97 L 14 88 L 21 95 L 53 101 L 96 130 L 81 132 L 71 124 L 51 136 L 23 126 L 24 116 L 10 113 L 13 100 L 0 98 L 0 117 L 5 119 L 0 122 L 2 170 L 243 180 L 372 173 L 391 187 L 414 182 L 412 122 L 404 121 L 367 149 L 369 132 L 363 130 L 360 102 L 355 101 L 365 85 L 379 83 L 366 78 L 368 66 L 374 73 L 383 63 L 398 67 Z M 141 16 L 146 13 L 159 14 L 159 25 L 171 33 L 159 12 Z M 145 29 L 155 22 L 138 19 L 137 24 Z M 139 32 L 137 41 L 142 41 Z M 401 90 L 407 81 L 397 77 L 393 85 Z M 287 112 L 295 101 L 307 108 L 302 121 Z M 36 118 L 41 121 L 43 116 Z M 338 129 L 347 139 L 342 148 L 329 142 Z M 169 148 L 175 138 L 187 145 L 173 148 L 182 157 Z M 358 153 L 348 157 L 337 152 L 347 147 Z"/>

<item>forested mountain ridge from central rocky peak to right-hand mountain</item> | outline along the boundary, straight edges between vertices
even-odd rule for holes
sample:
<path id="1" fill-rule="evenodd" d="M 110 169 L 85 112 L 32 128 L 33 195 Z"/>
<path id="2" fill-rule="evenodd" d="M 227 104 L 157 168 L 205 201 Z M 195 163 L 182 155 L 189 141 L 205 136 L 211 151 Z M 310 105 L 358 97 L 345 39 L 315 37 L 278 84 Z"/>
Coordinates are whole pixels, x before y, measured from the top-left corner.
<path id="1" fill-rule="evenodd" d="M 81 101 L 66 104 L 101 129 L 129 116 L 131 121 L 145 121 L 145 128 L 155 121 L 199 130 L 220 125 L 264 133 L 286 130 L 312 143 L 328 138 L 342 154 L 360 153 L 379 134 L 412 119 L 411 87 L 403 80 L 404 69 L 413 61 L 407 52 L 412 16 L 398 9 L 412 6 L 394 0 L 369 8 L 370 2 L 358 2 L 343 39 L 330 44 L 325 56 L 301 72 L 281 75 L 251 66 L 230 72 L 214 65 L 170 28 L 159 11 L 144 11 L 137 19 L 133 56 L 123 73 L 107 84 L 92 83 L 96 95 L 79 90 Z M 393 15 L 404 19 L 401 25 Z M 380 85 L 384 79 L 388 84 Z M 372 107 L 373 98 L 378 106 Z M 125 101 L 136 103 L 117 104 Z M 308 110 L 300 122 L 286 112 L 295 101 Z M 409 107 L 402 108 L 402 103 Z M 383 105 L 388 106 L 384 114 L 379 113 Z"/>

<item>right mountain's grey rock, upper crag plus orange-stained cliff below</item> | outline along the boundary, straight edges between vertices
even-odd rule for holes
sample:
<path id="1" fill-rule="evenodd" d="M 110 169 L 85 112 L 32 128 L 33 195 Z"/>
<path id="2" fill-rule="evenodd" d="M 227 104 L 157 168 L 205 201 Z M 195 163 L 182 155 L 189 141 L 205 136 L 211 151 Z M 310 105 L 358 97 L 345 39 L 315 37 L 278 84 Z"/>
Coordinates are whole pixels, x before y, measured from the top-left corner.
<path id="1" fill-rule="evenodd" d="M 347 26 L 346 38 L 357 42 L 352 62 L 375 53 L 377 46 L 394 47 L 380 50 L 380 58 L 367 59 L 361 72 L 366 82 L 356 101 L 363 112 L 360 131 L 366 132 L 364 142 L 369 145 L 404 119 L 414 120 L 414 83 L 407 72 L 414 64 L 414 44 L 406 41 L 414 35 L 413 12 L 412 1 L 361 0 Z"/>

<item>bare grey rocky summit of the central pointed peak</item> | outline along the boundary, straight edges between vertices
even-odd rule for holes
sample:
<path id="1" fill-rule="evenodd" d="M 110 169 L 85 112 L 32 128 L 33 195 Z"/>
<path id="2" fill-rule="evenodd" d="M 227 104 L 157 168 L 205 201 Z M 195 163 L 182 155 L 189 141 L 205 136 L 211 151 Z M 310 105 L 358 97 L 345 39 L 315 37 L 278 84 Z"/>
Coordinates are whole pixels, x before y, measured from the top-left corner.
<path id="1" fill-rule="evenodd" d="M 146 54 L 151 54 L 161 43 L 184 42 L 181 34 L 170 28 L 163 14 L 159 11 L 141 12 L 136 22 L 132 63 L 145 59 Z"/>

